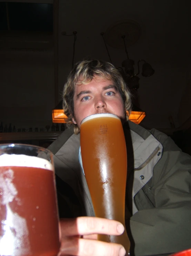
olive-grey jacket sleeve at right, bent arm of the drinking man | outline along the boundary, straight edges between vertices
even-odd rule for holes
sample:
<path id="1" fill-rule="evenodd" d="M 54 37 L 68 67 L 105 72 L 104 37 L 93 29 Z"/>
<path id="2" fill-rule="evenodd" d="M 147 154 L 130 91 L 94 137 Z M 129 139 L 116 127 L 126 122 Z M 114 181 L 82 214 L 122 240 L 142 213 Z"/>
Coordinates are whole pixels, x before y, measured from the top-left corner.
<path id="1" fill-rule="evenodd" d="M 151 179 L 154 207 L 143 207 L 130 219 L 136 256 L 191 248 L 191 157 L 171 138 L 158 134 L 157 139 L 161 138 L 165 138 L 163 155 Z"/>

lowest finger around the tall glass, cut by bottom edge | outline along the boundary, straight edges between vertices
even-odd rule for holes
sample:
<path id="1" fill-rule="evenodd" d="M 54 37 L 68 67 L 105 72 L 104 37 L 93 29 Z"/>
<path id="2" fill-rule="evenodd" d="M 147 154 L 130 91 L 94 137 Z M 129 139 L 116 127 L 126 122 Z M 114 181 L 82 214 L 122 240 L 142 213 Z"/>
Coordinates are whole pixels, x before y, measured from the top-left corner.
<path id="1" fill-rule="evenodd" d="M 61 244 L 61 255 L 74 256 L 124 256 L 122 245 L 70 237 Z"/>

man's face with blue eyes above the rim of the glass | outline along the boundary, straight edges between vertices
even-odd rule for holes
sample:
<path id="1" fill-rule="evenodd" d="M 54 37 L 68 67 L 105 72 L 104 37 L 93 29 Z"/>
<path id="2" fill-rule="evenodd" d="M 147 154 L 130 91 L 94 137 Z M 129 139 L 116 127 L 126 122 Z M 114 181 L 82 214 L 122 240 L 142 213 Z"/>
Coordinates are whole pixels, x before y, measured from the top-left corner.
<path id="1" fill-rule="evenodd" d="M 124 103 L 112 80 L 97 77 L 87 85 L 76 85 L 73 102 L 72 121 L 79 128 L 81 121 L 93 114 L 110 113 L 125 120 Z"/>

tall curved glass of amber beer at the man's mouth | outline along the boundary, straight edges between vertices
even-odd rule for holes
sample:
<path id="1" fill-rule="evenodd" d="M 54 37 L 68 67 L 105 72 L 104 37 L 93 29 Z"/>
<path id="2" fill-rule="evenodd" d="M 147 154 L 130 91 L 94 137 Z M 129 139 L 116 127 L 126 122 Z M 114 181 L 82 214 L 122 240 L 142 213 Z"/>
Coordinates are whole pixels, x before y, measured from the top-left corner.
<path id="1" fill-rule="evenodd" d="M 80 127 L 80 145 L 96 217 L 120 221 L 125 227 L 127 151 L 120 118 L 113 114 L 84 118 Z M 129 253 L 126 230 L 121 236 L 99 235 L 99 240 L 122 244 Z"/>

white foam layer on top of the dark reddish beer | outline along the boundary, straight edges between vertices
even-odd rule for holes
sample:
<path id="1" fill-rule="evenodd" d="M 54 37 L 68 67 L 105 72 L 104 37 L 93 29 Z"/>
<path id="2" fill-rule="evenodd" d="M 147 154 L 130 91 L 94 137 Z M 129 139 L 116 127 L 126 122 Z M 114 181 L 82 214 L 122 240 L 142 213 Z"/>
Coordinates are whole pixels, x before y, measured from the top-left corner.
<path id="1" fill-rule="evenodd" d="M 0 166 L 35 167 L 53 171 L 53 166 L 47 159 L 26 155 L 0 155 Z"/>

